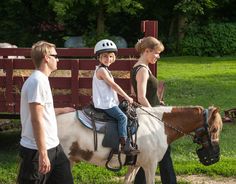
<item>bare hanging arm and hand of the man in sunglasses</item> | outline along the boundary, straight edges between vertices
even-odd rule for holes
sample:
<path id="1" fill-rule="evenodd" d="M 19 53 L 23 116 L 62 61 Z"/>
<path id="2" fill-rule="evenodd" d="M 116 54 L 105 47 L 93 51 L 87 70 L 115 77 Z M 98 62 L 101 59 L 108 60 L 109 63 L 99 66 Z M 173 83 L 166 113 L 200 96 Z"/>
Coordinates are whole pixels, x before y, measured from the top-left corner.
<path id="1" fill-rule="evenodd" d="M 51 169 L 51 163 L 48 158 L 45 142 L 43 106 L 38 103 L 30 103 L 30 113 L 34 138 L 39 152 L 39 172 L 46 174 Z"/>

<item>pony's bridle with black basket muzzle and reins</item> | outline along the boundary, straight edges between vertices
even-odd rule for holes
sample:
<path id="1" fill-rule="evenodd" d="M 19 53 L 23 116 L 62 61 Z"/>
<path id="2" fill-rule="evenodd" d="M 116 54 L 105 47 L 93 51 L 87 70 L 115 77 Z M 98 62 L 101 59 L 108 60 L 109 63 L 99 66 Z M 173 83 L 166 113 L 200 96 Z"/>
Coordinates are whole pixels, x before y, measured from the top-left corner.
<path id="1" fill-rule="evenodd" d="M 158 119 L 159 121 L 163 122 L 160 118 L 158 118 L 153 113 L 148 112 L 138 103 L 134 103 L 135 106 L 140 108 L 141 110 L 145 111 L 152 117 Z M 209 130 L 209 122 L 208 122 L 208 109 L 204 109 L 203 116 L 204 116 L 204 123 L 203 126 L 196 128 L 194 130 L 194 135 L 191 133 L 185 133 L 182 130 L 170 125 L 166 122 L 163 122 L 166 127 L 169 127 L 180 134 L 190 136 L 193 139 L 194 143 L 201 145 L 201 148 L 196 150 L 198 158 L 203 165 L 212 165 L 220 160 L 220 147 L 219 144 L 213 144 L 211 139 L 211 132 Z"/>

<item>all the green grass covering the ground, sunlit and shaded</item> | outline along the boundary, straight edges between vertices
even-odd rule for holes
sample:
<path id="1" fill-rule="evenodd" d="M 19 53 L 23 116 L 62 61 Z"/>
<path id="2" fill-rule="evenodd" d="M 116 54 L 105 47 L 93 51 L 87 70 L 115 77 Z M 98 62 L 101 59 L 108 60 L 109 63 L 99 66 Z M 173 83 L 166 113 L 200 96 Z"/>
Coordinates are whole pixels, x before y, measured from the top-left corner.
<path id="1" fill-rule="evenodd" d="M 164 80 L 167 105 L 214 105 L 223 111 L 236 107 L 236 57 L 166 57 L 158 64 L 158 78 Z M 189 137 L 172 144 L 172 158 L 177 175 L 206 174 L 236 177 L 236 122 L 224 124 L 221 133 L 220 162 L 200 164 L 197 145 Z M 0 133 L 0 184 L 15 183 L 18 169 L 17 147 L 20 132 Z M 118 173 L 86 163 L 73 168 L 75 183 L 122 183 L 126 168 Z M 157 174 L 159 170 L 157 169 Z M 156 183 L 160 183 L 157 181 Z M 178 181 L 180 184 L 187 182 Z"/>

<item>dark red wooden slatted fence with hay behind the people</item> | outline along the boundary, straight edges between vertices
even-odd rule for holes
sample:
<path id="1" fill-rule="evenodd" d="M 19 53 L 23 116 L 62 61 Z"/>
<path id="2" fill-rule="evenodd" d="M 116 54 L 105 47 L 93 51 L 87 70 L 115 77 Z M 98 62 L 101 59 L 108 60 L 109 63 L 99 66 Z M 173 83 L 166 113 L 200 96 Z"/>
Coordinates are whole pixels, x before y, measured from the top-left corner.
<path id="1" fill-rule="evenodd" d="M 147 24 L 142 22 L 142 30 L 147 31 L 145 36 L 156 36 L 156 24 L 155 21 Z M 57 48 L 57 53 L 60 59 L 58 70 L 49 77 L 54 105 L 81 108 L 90 101 L 92 75 L 98 64 L 93 49 Z M 24 81 L 34 70 L 30 48 L 0 48 L 0 56 L 0 119 L 19 118 L 20 91 Z M 9 56 L 13 56 L 12 59 Z M 24 59 L 17 58 L 18 56 L 24 56 Z M 115 81 L 130 94 L 130 70 L 138 55 L 134 48 L 124 48 L 118 50 L 118 56 L 109 69 Z M 156 65 L 150 67 L 156 75 Z"/>

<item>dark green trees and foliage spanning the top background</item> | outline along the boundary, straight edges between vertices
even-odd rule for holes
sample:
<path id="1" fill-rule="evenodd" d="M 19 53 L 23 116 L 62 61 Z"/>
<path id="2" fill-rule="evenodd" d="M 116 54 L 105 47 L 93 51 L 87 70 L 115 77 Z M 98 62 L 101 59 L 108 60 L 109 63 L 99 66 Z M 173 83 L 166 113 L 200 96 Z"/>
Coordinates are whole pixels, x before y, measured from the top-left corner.
<path id="1" fill-rule="evenodd" d="M 235 22 L 234 1 L 1 0 L 0 42 L 31 47 L 38 40 L 47 40 L 63 47 L 64 37 L 85 36 L 92 40 L 87 42 L 94 43 L 93 40 L 97 39 L 94 37 L 108 33 L 122 36 L 128 46 L 133 47 L 137 39 L 143 36 L 141 20 L 158 20 L 158 37 L 166 45 L 168 54 L 177 55 L 178 34 L 181 31 L 178 29 L 181 28 L 179 16 L 184 15 L 188 21 L 196 20 L 201 24 Z M 204 40 L 191 38 L 186 42 L 189 42 L 186 45 L 190 45 L 190 49 L 184 47 L 185 53 L 202 55 L 202 49 L 195 51 L 191 43 L 203 45 Z"/>

